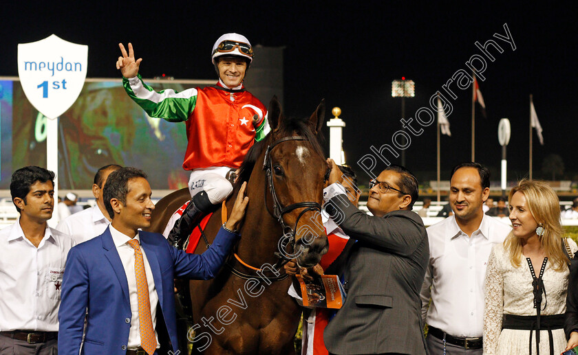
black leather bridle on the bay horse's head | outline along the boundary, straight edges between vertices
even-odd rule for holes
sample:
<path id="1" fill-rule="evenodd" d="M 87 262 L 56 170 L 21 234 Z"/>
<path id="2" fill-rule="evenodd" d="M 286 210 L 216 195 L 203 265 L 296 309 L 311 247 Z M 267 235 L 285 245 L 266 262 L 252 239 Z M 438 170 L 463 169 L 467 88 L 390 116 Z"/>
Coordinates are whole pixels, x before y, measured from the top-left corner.
<path id="1" fill-rule="evenodd" d="M 279 225 L 281 225 L 281 228 L 283 229 L 283 236 L 279 239 L 279 249 L 282 251 L 286 251 L 286 247 L 289 244 L 292 244 L 292 246 L 295 247 L 295 234 L 297 233 L 297 225 L 299 224 L 299 220 L 303 214 L 306 214 L 308 211 L 318 211 L 321 213 L 321 205 L 317 202 L 299 202 L 293 203 L 292 205 L 288 205 L 286 207 L 281 206 L 279 198 L 277 198 L 277 192 L 275 192 L 275 184 L 273 183 L 273 174 L 271 172 L 271 151 L 278 144 L 281 144 L 285 141 L 308 141 L 308 139 L 307 137 L 303 137 L 301 135 L 283 137 L 281 139 L 277 139 L 277 141 L 274 141 L 272 144 L 267 146 L 267 150 L 265 152 L 263 170 L 265 170 L 267 185 L 273 200 L 273 211 L 271 213 L 268 207 L 266 207 L 266 209 L 273 218 L 277 219 L 277 222 L 279 222 Z M 265 186 L 265 205 L 267 205 L 268 195 L 266 190 L 267 186 Z M 299 216 L 297 216 L 297 220 L 295 220 L 295 226 L 291 228 L 286 224 L 285 220 L 283 220 L 283 215 L 298 208 L 303 208 L 303 211 L 301 211 Z M 290 258 L 287 257 L 287 253 L 275 253 L 275 255 L 281 259 L 290 260 Z"/>

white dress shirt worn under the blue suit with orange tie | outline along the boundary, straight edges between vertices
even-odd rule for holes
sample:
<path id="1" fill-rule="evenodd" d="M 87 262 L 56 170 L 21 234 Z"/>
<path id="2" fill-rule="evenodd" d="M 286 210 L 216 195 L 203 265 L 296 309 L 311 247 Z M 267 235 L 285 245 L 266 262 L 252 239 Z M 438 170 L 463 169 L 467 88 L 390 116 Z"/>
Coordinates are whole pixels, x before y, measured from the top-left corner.
<path id="1" fill-rule="evenodd" d="M 118 251 L 118 256 L 120 256 L 120 261 L 122 266 L 125 267 L 125 273 L 127 274 L 127 281 L 129 282 L 129 300 L 131 302 L 131 330 L 129 332 L 129 342 L 127 347 L 129 350 L 136 350 L 140 347 L 140 321 L 138 319 L 138 293 L 136 290 L 136 276 L 134 274 L 134 248 L 129 244 L 129 236 L 118 231 L 112 225 L 110 226 L 110 234 L 112 236 L 112 241 Z M 138 240 L 140 244 L 140 236 L 137 234 L 134 239 Z M 158 305 L 158 295 L 155 287 L 155 280 L 153 279 L 153 271 L 147 259 L 147 254 L 142 251 L 142 262 L 144 262 L 144 273 L 147 274 L 147 282 L 149 284 L 149 300 L 151 302 L 151 319 L 153 320 L 153 328 L 155 328 L 155 336 L 157 339 L 157 349 L 160 347 L 158 342 L 158 334 L 156 332 L 156 308 Z M 172 297 L 172 296 L 171 296 Z"/>

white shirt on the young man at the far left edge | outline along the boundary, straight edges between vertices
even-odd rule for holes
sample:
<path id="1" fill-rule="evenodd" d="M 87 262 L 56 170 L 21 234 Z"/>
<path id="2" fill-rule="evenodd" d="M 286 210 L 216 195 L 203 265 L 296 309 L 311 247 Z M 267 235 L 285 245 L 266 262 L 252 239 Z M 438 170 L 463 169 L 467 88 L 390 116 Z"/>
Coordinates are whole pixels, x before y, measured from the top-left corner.
<path id="1" fill-rule="evenodd" d="M 24 237 L 20 218 L 0 231 L 0 331 L 58 331 L 58 307 L 69 236 L 46 227 L 38 248 Z"/>

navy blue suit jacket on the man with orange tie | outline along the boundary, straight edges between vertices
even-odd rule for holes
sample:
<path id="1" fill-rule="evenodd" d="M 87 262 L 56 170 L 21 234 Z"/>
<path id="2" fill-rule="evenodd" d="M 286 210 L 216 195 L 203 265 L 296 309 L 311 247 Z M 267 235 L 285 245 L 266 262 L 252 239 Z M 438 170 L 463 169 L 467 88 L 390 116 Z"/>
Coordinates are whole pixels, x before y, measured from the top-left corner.
<path id="1" fill-rule="evenodd" d="M 178 349 L 173 279 L 211 279 L 222 266 L 238 236 L 220 229 L 202 255 L 187 254 L 169 245 L 159 233 L 140 231 L 140 244 L 151 266 L 158 302 L 173 352 Z M 109 228 L 100 236 L 70 249 L 58 312 L 58 353 L 78 355 L 86 310 L 83 354 L 124 355 L 131 327 L 129 286 L 125 268 Z M 157 327 L 158 330 L 158 327 Z"/>

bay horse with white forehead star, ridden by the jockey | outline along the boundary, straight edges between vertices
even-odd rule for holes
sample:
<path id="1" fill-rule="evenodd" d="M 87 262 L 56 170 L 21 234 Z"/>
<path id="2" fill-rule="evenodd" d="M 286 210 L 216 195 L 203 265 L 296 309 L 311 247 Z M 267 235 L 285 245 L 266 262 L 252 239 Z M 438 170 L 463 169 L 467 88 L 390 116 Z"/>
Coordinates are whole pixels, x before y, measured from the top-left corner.
<path id="1" fill-rule="evenodd" d="M 230 257 L 212 280 L 189 282 L 193 353 L 295 354 L 301 308 L 287 293 L 291 278 L 281 260 L 297 256 L 300 266 L 310 267 L 328 249 L 319 214 L 328 171 L 318 140 L 324 115 L 321 102 L 309 119 L 287 119 L 277 98 L 271 100 L 271 131 L 249 150 L 226 202 L 231 211 L 247 181 L 249 203 L 235 247 L 238 259 Z M 162 232 L 171 214 L 190 198 L 188 189 L 162 198 L 151 230 Z M 221 212 L 204 229 L 209 243 L 222 225 Z M 205 250 L 201 240 L 195 253 Z"/>

